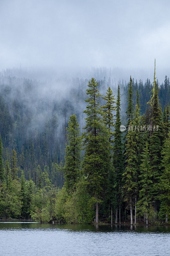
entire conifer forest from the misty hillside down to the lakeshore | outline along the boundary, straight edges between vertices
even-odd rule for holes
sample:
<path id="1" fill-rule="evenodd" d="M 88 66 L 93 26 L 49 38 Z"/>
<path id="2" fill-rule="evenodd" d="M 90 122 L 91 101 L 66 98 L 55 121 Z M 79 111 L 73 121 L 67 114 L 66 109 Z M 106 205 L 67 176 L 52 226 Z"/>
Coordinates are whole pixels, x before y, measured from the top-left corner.
<path id="1" fill-rule="evenodd" d="M 169 78 L 55 82 L 0 76 L 0 218 L 169 223 Z"/>

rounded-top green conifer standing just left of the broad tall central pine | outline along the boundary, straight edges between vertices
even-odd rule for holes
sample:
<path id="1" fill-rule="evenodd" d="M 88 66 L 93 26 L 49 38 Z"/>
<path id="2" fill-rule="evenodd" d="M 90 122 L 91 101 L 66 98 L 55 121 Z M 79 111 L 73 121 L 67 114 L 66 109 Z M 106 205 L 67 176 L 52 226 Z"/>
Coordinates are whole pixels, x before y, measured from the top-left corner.
<path id="1" fill-rule="evenodd" d="M 75 115 L 70 116 L 69 127 L 67 128 L 67 139 L 69 145 L 65 149 L 65 187 L 73 192 L 75 184 L 80 175 L 81 164 L 81 137 L 80 128 Z"/>

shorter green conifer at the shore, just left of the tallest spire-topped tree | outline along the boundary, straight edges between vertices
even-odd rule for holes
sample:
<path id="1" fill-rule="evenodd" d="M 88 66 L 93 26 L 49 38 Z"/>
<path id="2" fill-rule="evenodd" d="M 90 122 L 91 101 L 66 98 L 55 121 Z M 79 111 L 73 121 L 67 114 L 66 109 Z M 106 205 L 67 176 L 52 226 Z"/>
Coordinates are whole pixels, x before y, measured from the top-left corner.
<path id="1" fill-rule="evenodd" d="M 142 154 L 139 179 L 140 190 L 137 211 L 140 214 L 146 214 L 146 224 L 148 224 L 148 211 L 151 204 L 152 169 L 150 165 L 149 144 L 147 141 Z"/>

